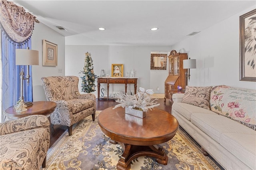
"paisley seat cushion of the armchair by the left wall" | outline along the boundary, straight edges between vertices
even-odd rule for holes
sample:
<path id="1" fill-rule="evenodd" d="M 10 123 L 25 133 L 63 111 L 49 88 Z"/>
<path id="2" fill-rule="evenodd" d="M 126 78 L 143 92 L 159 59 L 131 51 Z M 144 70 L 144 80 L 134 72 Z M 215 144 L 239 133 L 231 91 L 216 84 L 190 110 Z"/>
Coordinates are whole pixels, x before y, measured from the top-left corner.
<path id="1" fill-rule="evenodd" d="M 90 107 L 94 107 L 94 101 L 88 99 L 71 99 L 67 101 L 72 113 L 78 113 Z"/>

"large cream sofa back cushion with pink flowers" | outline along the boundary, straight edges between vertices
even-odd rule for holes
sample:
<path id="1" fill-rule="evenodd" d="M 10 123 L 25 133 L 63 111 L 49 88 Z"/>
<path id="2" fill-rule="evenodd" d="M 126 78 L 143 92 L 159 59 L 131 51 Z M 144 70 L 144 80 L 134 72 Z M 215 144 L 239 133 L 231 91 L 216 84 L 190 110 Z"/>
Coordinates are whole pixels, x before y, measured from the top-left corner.
<path id="1" fill-rule="evenodd" d="M 256 130 L 256 91 L 215 86 L 210 93 L 211 110 Z"/>

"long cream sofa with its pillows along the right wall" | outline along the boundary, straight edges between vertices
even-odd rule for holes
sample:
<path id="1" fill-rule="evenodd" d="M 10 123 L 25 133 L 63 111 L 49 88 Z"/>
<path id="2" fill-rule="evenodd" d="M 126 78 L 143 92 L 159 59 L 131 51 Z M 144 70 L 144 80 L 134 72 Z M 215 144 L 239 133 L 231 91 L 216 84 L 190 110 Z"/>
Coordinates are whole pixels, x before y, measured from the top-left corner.
<path id="1" fill-rule="evenodd" d="M 172 95 L 172 115 L 225 169 L 255 170 L 256 91 L 215 86 L 209 91 L 209 108 L 203 108 L 198 98 L 206 95 L 197 89 L 186 87 L 185 94 Z"/>

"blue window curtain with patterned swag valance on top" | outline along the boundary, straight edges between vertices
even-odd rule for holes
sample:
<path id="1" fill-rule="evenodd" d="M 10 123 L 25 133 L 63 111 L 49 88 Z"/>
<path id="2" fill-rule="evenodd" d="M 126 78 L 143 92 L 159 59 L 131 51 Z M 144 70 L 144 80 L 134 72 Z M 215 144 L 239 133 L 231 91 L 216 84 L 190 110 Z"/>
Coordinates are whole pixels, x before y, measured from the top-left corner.
<path id="1" fill-rule="evenodd" d="M 13 2 L 0 1 L 0 28 L 1 28 L 1 122 L 4 121 L 4 111 L 15 105 L 20 97 L 20 71 L 27 66 L 16 65 L 16 49 L 31 49 L 31 34 L 36 17 L 25 12 L 24 8 L 16 6 Z M 32 66 L 29 66 L 30 83 L 24 81 L 24 101 L 32 101 Z"/>

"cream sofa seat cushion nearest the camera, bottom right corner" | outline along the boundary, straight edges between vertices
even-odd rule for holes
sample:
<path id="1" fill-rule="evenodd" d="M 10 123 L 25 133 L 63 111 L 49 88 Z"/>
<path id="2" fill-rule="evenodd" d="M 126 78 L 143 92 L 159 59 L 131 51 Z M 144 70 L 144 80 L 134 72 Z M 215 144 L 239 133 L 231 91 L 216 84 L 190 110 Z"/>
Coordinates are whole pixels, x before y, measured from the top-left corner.
<path id="1" fill-rule="evenodd" d="M 220 144 L 251 169 L 256 169 L 256 131 L 254 134 L 223 133 Z"/>

